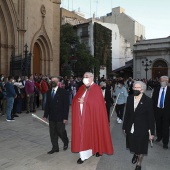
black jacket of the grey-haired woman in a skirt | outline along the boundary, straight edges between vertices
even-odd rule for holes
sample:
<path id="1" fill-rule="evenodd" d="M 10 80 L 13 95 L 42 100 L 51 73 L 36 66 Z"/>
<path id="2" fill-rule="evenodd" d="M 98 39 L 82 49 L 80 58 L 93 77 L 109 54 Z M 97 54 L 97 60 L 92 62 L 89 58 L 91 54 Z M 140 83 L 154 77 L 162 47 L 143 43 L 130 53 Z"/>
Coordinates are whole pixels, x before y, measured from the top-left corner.
<path id="1" fill-rule="evenodd" d="M 123 130 L 126 134 L 130 134 L 132 124 L 134 123 L 134 135 L 148 135 L 148 130 L 151 134 L 155 132 L 155 120 L 153 113 L 152 99 L 143 94 L 137 108 L 134 111 L 134 95 L 127 98 L 126 112 L 123 122 Z"/>

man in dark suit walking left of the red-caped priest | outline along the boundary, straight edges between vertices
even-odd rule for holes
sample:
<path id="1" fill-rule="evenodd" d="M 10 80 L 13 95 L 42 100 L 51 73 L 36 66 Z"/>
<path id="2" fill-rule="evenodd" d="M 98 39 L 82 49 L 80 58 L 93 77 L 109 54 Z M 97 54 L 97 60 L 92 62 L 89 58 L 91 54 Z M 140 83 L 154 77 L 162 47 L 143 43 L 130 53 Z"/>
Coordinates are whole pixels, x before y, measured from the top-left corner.
<path id="1" fill-rule="evenodd" d="M 58 87 L 59 79 L 51 78 L 51 89 L 47 91 L 44 120 L 49 117 L 50 138 L 52 150 L 48 154 L 59 152 L 58 137 L 64 143 L 63 150 L 68 148 L 68 137 L 65 124 L 69 113 L 69 96 L 65 89 Z"/>

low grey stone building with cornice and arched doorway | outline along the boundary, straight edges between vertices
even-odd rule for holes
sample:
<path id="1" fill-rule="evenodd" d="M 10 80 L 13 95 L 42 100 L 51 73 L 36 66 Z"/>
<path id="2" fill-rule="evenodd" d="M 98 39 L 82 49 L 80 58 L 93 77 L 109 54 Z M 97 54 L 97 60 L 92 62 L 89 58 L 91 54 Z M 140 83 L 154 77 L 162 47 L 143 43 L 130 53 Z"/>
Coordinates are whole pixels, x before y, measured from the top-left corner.
<path id="1" fill-rule="evenodd" d="M 134 78 L 170 76 L 170 37 L 138 41 L 133 52 Z"/>

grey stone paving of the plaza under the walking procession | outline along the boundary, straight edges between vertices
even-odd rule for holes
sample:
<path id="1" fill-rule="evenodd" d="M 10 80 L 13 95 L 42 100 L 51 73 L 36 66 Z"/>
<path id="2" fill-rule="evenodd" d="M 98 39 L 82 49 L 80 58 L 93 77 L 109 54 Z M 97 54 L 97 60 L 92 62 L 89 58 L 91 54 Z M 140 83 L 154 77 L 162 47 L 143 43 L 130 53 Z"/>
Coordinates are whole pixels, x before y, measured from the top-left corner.
<path id="1" fill-rule="evenodd" d="M 35 114 L 43 117 L 42 110 Z M 60 152 L 47 154 L 51 150 L 48 126 L 32 118 L 31 114 L 22 113 L 15 122 L 6 122 L 4 116 L 0 117 L 0 170 L 134 170 L 133 155 L 126 150 L 121 128 L 122 124 L 116 122 L 114 115 L 110 125 L 114 155 L 93 156 L 78 165 L 79 154 L 71 153 L 71 141 L 68 150 L 63 151 L 63 143 L 59 140 Z M 70 116 L 66 129 L 71 139 Z M 162 143 L 153 145 L 144 157 L 142 170 L 169 170 L 170 149 L 164 150 Z"/>

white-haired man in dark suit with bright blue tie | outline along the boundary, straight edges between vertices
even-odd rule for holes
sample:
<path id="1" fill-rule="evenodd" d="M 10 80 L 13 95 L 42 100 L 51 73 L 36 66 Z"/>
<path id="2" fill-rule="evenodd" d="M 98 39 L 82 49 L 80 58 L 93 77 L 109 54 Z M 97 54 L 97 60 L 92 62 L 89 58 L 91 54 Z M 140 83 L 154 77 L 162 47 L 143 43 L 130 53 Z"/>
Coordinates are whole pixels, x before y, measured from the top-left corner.
<path id="1" fill-rule="evenodd" d="M 170 120 L 170 87 L 167 76 L 160 77 L 160 87 L 155 87 L 152 95 L 156 120 L 156 142 L 163 142 L 163 148 L 168 149 Z"/>

